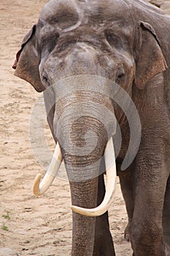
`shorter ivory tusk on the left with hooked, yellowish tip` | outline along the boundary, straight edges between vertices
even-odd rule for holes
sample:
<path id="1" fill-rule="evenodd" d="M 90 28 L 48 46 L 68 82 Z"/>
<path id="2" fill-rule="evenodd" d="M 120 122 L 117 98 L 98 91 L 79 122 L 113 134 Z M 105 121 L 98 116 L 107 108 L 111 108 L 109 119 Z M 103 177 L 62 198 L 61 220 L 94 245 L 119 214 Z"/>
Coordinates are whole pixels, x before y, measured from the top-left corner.
<path id="1" fill-rule="evenodd" d="M 58 173 L 58 170 L 61 166 L 62 162 L 62 154 L 61 154 L 61 148 L 59 144 L 55 146 L 55 151 L 53 154 L 53 158 L 50 162 L 50 166 L 48 167 L 47 173 L 45 173 L 45 177 L 41 180 L 42 174 L 39 173 L 34 178 L 34 185 L 33 185 L 33 192 L 34 195 L 42 195 L 45 193 L 45 191 L 50 187 L 50 185 L 53 183 L 53 180 L 55 176 Z"/>

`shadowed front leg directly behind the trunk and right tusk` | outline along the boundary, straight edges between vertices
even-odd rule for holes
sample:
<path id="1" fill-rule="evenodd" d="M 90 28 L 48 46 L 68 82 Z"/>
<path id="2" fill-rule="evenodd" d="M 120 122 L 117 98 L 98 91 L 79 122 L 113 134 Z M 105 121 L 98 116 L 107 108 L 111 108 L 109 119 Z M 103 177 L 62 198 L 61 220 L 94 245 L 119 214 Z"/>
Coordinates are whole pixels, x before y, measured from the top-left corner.
<path id="1" fill-rule="evenodd" d="M 98 204 L 103 200 L 104 194 L 104 175 L 102 174 L 98 177 Z M 108 212 L 96 217 L 93 256 L 115 256 L 112 235 L 109 230 Z"/>

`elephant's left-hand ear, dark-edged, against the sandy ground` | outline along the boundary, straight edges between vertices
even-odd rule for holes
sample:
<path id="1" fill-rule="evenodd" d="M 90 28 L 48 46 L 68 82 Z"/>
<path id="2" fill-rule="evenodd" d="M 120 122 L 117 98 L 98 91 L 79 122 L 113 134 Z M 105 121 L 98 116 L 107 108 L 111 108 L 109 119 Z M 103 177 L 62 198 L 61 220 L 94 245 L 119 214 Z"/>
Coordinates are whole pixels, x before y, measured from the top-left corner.
<path id="1" fill-rule="evenodd" d="M 16 76 L 31 83 L 36 91 L 41 92 L 45 90 L 45 86 L 39 76 L 40 54 L 37 50 L 35 31 L 36 25 L 24 37 L 12 68 L 15 69 Z"/>

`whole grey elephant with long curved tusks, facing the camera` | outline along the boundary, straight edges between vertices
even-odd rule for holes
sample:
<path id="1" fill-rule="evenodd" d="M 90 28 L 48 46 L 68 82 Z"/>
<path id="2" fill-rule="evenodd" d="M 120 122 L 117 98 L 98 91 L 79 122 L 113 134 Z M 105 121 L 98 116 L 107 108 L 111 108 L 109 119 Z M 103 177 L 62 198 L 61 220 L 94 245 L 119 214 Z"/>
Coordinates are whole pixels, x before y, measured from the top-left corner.
<path id="1" fill-rule="evenodd" d="M 169 64 L 170 16 L 141 0 L 51 0 L 23 39 L 15 75 L 44 91 L 56 143 L 34 193 L 47 190 L 63 159 L 72 256 L 115 255 L 107 212 L 115 162 L 133 255 L 170 255 Z M 116 157 L 112 137 L 121 138 Z"/>

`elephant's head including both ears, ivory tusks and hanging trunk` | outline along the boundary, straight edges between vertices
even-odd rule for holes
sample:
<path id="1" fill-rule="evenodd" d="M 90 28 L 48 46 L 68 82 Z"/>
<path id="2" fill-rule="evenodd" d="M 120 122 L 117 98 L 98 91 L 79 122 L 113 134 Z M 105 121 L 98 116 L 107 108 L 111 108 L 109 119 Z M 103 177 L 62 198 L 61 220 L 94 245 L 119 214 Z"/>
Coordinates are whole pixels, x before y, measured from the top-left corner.
<path id="1" fill-rule="evenodd" d="M 134 86 L 143 89 L 166 69 L 154 29 L 132 13 L 132 2 L 49 1 L 14 64 L 15 75 L 44 91 L 56 142 L 41 183 L 41 175 L 36 176 L 34 193 L 47 190 L 63 159 L 76 205 L 72 210 L 88 216 L 73 214 L 72 255 L 93 254 L 95 218 L 90 217 L 109 208 L 116 176 L 112 136 L 117 124 L 123 126 L 123 110 L 131 110 Z M 132 140 L 126 158 L 138 146 Z M 103 201 L 98 199 L 102 162 L 107 172 Z"/>

